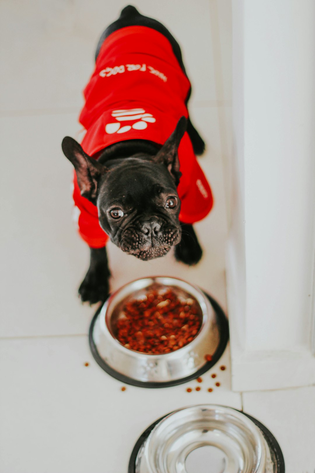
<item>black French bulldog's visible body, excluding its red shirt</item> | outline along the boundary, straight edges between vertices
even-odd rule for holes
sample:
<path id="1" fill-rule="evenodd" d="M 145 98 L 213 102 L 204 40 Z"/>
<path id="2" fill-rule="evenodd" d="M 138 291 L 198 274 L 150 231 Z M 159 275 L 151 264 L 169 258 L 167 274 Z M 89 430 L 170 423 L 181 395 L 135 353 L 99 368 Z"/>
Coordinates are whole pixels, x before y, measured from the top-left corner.
<path id="1" fill-rule="evenodd" d="M 132 6 L 123 9 L 119 19 L 102 34 L 96 57 L 108 35 L 132 25 L 149 26 L 166 36 L 185 71 L 179 45 L 170 32 Z M 102 149 L 94 159 L 76 140 L 65 137 L 62 141 L 62 150 L 75 167 L 81 195 L 97 206 L 102 229 L 124 252 L 142 260 L 163 256 L 172 246 L 178 261 L 192 265 L 201 259 L 194 228 L 179 222 L 177 186 L 181 173 L 177 150 L 186 130 L 194 152 L 202 154 L 204 142 L 185 117 L 180 118 L 162 148 L 149 140 L 124 140 Z M 106 247 L 90 248 L 90 256 L 79 295 L 83 302 L 93 304 L 107 298 L 111 273 Z"/>

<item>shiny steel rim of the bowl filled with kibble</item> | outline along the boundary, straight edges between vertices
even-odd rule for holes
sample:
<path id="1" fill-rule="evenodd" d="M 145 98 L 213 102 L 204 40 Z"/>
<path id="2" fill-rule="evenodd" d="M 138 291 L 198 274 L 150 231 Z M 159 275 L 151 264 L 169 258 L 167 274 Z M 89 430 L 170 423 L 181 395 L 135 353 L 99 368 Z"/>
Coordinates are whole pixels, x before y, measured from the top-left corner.
<path id="1" fill-rule="evenodd" d="M 186 343 L 186 345 L 180 347 L 178 350 L 169 351 L 168 353 L 146 353 L 144 351 L 137 351 L 137 350 L 132 350 L 131 348 L 126 348 L 122 343 L 119 342 L 118 338 L 114 335 L 114 333 L 112 331 L 111 324 L 110 324 L 110 321 L 109 321 L 110 315 L 109 315 L 107 309 L 110 307 L 111 301 L 117 296 L 117 294 L 119 294 L 119 292 L 121 292 L 123 289 L 130 286 L 131 284 L 134 284 L 136 281 L 159 280 L 159 279 L 169 279 L 169 280 L 173 280 L 173 281 L 180 281 L 180 282 L 184 283 L 185 285 L 191 287 L 194 291 L 196 291 L 196 293 L 199 295 L 200 300 L 202 301 L 202 303 L 200 303 L 200 300 L 198 300 L 193 294 L 190 294 L 188 291 L 185 291 L 185 292 L 187 292 L 187 294 L 189 294 L 189 296 L 191 298 L 193 298 L 196 301 L 196 303 L 198 304 L 198 306 L 200 307 L 201 316 L 202 316 L 202 322 L 201 322 L 200 328 L 199 328 L 198 332 L 196 333 L 196 336 L 193 338 L 193 340 L 191 342 Z M 157 282 L 157 284 L 159 284 L 159 283 Z M 140 290 L 140 289 L 147 289 L 151 285 L 152 285 L 152 283 L 144 286 L 143 288 L 135 289 L 135 292 L 137 290 Z M 176 287 L 175 284 L 164 285 L 164 284 L 160 283 L 160 285 L 164 286 L 165 288 L 167 288 L 167 287 L 171 287 L 171 288 Z M 182 290 L 184 291 L 185 289 L 182 289 Z M 131 293 L 128 294 L 125 298 L 128 298 L 130 295 L 131 295 Z M 121 299 L 121 301 L 119 301 L 119 302 L 122 302 L 125 298 Z M 202 307 L 202 306 L 204 306 L 204 307 Z M 114 308 L 115 308 L 115 306 L 114 306 Z M 204 325 L 206 324 L 206 322 L 208 320 L 208 309 L 209 309 L 208 299 L 206 298 L 206 296 L 204 295 L 202 290 L 197 288 L 194 284 L 190 284 L 189 282 L 187 282 L 185 280 L 182 280 L 180 278 L 175 278 L 173 276 L 147 276 L 145 278 L 137 278 L 133 281 L 127 282 L 126 284 L 121 286 L 119 289 L 117 289 L 115 292 L 113 292 L 110 295 L 110 297 L 107 299 L 107 301 L 104 303 L 104 305 L 101 309 L 101 315 L 104 315 L 104 316 L 100 320 L 100 323 L 101 323 L 102 328 L 106 329 L 108 331 L 108 333 L 110 333 L 111 338 L 113 339 L 114 343 L 122 351 L 126 351 L 128 353 L 133 352 L 133 353 L 136 353 L 138 356 L 145 357 L 145 358 L 148 357 L 148 356 L 150 358 L 151 357 L 152 358 L 153 357 L 158 357 L 159 358 L 161 356 L 167 356 L 167 355 L 169 357 L 171 357 L 172 355 L 176 356 L 176 354 L 179 352 L 179 350 L 182 350 L 183 348 L 187 348 L 191 343 L 196 342 L 196 340 L 198 338 L 200 338 L 200 336 L 202 334 L 202 331 L 203 331 L 203 328 L 204 328 Z M 112 314 L 113 314 L 113 310 L 111 311 L 111 315 Z"/>

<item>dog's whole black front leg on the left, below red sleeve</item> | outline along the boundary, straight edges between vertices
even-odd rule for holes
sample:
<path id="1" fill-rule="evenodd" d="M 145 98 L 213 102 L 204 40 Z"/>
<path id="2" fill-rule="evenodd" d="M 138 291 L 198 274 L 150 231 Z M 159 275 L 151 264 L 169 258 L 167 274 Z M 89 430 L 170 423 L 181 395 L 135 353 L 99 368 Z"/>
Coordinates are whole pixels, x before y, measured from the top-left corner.
<path id="1" fill-rule="evenodd" d="M 79 296 L 82 302 L 95 304 L 104 302 L 109 295 L 109 278 L 106 247 L 90 248 L 90 267 L 79 287 Z"/>

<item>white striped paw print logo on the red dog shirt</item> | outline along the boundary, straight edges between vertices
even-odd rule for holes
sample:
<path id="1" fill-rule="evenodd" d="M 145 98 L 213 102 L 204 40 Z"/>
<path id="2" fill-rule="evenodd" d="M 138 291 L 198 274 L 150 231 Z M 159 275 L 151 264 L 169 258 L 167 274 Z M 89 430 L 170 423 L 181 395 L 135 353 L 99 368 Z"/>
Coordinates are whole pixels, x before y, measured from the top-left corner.
<path id="1" fill-rule="evenodd" d="M 131 130 L 145 130 L 148 123 L 155 123 L 155 118 L 152 114 L 145 113 L 143 108 L 129 108 L 126 110 L 113 110 L 111 116 L 117 120 L 113 123 L 107 123 L 105 131 L 109 135 L 113 133 L 126 133 Z M 120 126 L 123 122 L 135 121 L 132 125 Z M 122 123 L 121 123 L 122 122 Z"/>

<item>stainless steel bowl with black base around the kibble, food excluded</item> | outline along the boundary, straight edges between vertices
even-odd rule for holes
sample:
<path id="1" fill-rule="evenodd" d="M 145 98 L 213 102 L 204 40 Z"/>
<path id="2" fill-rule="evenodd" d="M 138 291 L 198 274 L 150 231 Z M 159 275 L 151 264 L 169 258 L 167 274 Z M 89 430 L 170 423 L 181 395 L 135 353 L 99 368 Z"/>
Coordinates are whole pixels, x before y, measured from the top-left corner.
<path id="1" fill-rule="evenodd" d="M 167 288 L 179 297 L 197 301 L 202 324 L 195 339 L 177 351 L 159 355 L 124 347 L 115 337 L 115 325 L 124 304 L 131 299 L 143 298 L 152 289 L 163 291 Z M 170 277 L 135 280 L 112 294 L 95 314 L 90 327 L 91 351 L 105 371 L 125 383 L 162 387 L 193 379 L 219 359 L 228 340 L 225 316 L 215 301 L 212 300 L 212 304 L 200 289 L 183 280 Z M 212 362 L 206 361 L 206 354 L 213 355 Z"/>

